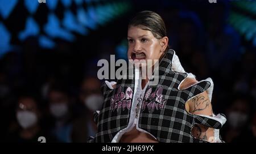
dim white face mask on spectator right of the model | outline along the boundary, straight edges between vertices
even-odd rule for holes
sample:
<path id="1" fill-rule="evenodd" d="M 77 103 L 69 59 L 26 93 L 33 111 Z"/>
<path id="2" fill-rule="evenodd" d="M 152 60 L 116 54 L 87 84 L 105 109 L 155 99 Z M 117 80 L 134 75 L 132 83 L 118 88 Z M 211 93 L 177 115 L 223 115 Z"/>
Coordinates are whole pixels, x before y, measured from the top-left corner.
<path id="1" fill-rule="evenodd" d="M 247 121 L 247 115 L 240 112 L 230 112 L 228 114 L 228 123 L 234 129 L 238 129 L 245 125 Z"/>

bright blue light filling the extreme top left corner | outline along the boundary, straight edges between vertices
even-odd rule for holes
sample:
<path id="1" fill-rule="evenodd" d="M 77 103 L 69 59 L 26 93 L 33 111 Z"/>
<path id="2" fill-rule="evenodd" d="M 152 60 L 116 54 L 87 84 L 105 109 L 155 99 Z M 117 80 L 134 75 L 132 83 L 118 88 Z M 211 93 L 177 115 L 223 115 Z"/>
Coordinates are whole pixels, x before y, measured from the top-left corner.
<path id="1" fill-rule="evenodd" d="M 17 3 L 18 0 L 0 0 L 0 14 L 2 15 L 3 19 L 8 18 Z"/>

